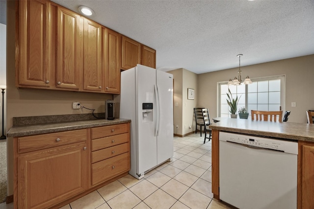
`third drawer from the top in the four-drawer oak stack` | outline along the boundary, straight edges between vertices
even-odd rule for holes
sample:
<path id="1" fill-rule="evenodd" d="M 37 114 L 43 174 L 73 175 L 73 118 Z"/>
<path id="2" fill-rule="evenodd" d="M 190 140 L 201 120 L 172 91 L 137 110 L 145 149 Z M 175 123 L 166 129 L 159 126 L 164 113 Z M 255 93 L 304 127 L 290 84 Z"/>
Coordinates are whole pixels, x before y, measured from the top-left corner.
<path id="1" fill-rule="evenodd" d="M 119 144 L 116 146 L 108 147 L 105 149 L 100 149 L 92 152 L 92 163 L 111 158 L 122 153 L 130 151 L 130 143 Z"/>

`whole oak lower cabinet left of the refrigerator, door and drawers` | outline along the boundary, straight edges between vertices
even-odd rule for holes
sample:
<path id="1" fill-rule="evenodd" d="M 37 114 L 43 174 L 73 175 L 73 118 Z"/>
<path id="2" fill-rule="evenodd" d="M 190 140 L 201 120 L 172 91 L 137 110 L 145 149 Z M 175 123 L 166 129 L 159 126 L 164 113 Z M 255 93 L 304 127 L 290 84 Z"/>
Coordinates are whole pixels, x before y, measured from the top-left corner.
<path id="1" fill-rule="evenodd" d="M 130 170 L 130 123 L 14 138 L 14 209 L 61 208 Z"/>

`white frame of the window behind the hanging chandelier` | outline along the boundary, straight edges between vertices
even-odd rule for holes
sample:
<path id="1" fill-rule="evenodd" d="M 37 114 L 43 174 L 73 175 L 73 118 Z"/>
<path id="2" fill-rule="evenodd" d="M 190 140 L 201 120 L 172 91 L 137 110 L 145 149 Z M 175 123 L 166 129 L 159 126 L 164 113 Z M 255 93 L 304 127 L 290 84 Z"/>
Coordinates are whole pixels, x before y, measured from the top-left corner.
<path id="1" fill-rule="evenodd" d="M 281 110 L 285 113 L 286 111 L 286 75 L 275 75 L 275 76 L 266 76 L 266 77 L 259 77 L 259 78 L 251 78 L 252 82 L 256 81 L 265 81 L 265 80 L 275 80 L 275 79 L 280 79 L 280 104 L 281 104 Z M 221 116 L 220 113 L 220 104 L 221 104 L 221 93 L 220 93 L 220 86 L 221 85 L 226 85 L 228 81 L 222 81 L 222 82 L 217 82 L 217 117 Z M 244 84 L 241 84 L 244 85 Z M 250 84 L 248 84 L 250 85 Z M 245 89 L 245 97 L 247 97 L 247 88 Z M 245 99 L 245 106 L 247 106 L 247 99 Z M 249 113 L 251 115 L 251 113 Z"/>

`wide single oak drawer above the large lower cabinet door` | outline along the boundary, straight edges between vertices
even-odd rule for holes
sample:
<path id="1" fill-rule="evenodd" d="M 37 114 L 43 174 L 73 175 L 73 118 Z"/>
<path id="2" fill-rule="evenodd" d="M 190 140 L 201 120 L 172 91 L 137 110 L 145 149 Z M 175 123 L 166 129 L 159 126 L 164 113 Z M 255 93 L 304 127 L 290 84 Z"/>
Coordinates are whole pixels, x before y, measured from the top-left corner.
<path id="1" fill-rule="evenodd" d="M 18 138 L 19 153 L 86 141 L 86 129 Z"/>

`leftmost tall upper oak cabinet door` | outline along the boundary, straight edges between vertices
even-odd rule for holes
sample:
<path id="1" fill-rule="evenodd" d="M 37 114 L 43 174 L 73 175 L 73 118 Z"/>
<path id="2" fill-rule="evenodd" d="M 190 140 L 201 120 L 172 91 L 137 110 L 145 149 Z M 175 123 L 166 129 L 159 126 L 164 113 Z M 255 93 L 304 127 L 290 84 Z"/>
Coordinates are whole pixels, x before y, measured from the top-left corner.
<path id="1" fill-rule="evenodd" d="M 18 85 L 49 87 L 51 64 L 50 2 L 19 1 L 20 65 Z"/>

